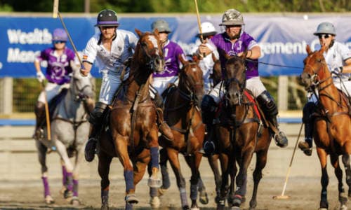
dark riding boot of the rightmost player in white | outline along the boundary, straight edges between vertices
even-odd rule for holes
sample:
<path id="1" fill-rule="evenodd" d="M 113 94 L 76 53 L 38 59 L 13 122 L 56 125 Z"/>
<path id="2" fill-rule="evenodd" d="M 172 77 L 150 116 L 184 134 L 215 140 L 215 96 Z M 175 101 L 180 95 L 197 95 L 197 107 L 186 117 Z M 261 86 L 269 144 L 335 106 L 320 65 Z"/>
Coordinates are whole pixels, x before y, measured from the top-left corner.
<path id="1" fill-rule="evenodd" d="M 312 113 L 315 109 L 314 102 L 307 102 L 303 107 L 303 123 L 305 123 L 305 142 L 300 141 L 298 148 L 300 148 L 305 155 L 312 155 L 312 133 L 313 133 L 313 120 Z"/>

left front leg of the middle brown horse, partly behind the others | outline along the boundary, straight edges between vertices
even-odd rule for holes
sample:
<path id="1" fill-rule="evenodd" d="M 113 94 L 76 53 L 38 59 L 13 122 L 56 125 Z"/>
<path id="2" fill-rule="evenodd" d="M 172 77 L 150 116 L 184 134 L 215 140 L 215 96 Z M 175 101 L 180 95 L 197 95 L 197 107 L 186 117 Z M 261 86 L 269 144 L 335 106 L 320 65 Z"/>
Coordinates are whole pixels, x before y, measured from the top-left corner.
<path id="1" fill-rule="evenodd" d="M 177 179 L 177 186 L 180 192 L 180 201 L 182 203 L 183 209 L 189 209 L 189 204 L 187 203 L 187 190 L 186 183 L 182 172 L 180 171 L 180 162 L 178 158 L 178 151 L 173 148 L 167 148 L 169 162 L 171 163 L 171 167 L 173 169 L 174 174 Z"/>

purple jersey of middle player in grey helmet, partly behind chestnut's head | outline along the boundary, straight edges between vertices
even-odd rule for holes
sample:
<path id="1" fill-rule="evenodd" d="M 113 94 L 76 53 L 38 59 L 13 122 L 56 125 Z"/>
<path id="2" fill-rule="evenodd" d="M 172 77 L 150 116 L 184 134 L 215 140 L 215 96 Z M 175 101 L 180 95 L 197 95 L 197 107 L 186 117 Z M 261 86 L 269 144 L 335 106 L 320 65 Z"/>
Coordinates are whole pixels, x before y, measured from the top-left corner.
<path id="1" fill-rule="evenodd" d="M 173 42 L 167 41 L 164 45 L 164 71 L 153 73 L 153 77 L 168 77 L 168 76 L 176 76 L 178 75 L 180 60 L 179 55 L 186 60 L 185 54 L 180 48 L 180 46 Z"/>

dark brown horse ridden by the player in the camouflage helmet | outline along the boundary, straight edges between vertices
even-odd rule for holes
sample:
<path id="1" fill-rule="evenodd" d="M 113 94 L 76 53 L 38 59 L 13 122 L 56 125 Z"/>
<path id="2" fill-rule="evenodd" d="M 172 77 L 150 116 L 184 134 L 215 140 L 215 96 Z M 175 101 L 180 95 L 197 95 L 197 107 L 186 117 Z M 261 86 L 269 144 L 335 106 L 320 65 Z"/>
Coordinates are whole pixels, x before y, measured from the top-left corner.
<path id="1" fill-rule="evenodd" d="M 256 168 L 253 172 L 253 195 L 250 208 L 257 205 L 258 183 L 262 178 L 262 169 L 267 161 L 267 152 L 272 139 L 270 132 L 260 123 L 260 114 L 256 111 L 256 102 L 246 85 L 245 54 L 242 57 L 230 57 L 225 66 L 226 90 L 219 111 L 220 123 L 215 125 L 215 137 L 218 141 L 218 153 L 222 167 L 222 183 L 218 196 L 218 209 L 224 209 L 225 198 L 232 209 L 239 209 L 245 201 L 247 169 L 253 153 L 256 153 Z M 239 174 L 237 174 L 237 165 Z M 237 174 L 237 177 L 236 177 Z M 228 192 L 228 175 L 231 177 Z M 236 190 L 234 181 L 236 178 Z"/>

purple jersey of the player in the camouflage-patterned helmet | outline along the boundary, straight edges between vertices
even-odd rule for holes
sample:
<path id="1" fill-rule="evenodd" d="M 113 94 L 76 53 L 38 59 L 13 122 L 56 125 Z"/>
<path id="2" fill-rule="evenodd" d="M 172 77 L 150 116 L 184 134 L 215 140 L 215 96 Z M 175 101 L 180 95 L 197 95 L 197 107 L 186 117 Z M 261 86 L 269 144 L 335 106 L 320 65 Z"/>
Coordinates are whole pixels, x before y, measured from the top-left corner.
<path id="1" fill-rule="evenodd" d="M 253 47 L 253 45 L 257 45 L 256 40 L 252 38 L 246 32 L 243 32 L 239 39 L 232 43 L 228 38 L 227 34 L 224 32 L 222 34 L 216 34 L 211 38 L 211 43 L 216 46 L 218 53 L 220 55 L 220 64 L 222 65 L 222 75 L 225 71 L 225 53 L 227 55 L 237 55 L 239 52 L 244 52 L 245 50 L 249 50 Z M 258 76 L 258 59 L 253 59 L 253 61 L 246 60 L 246 79 L 252 78 L 254 76 Z"/>

